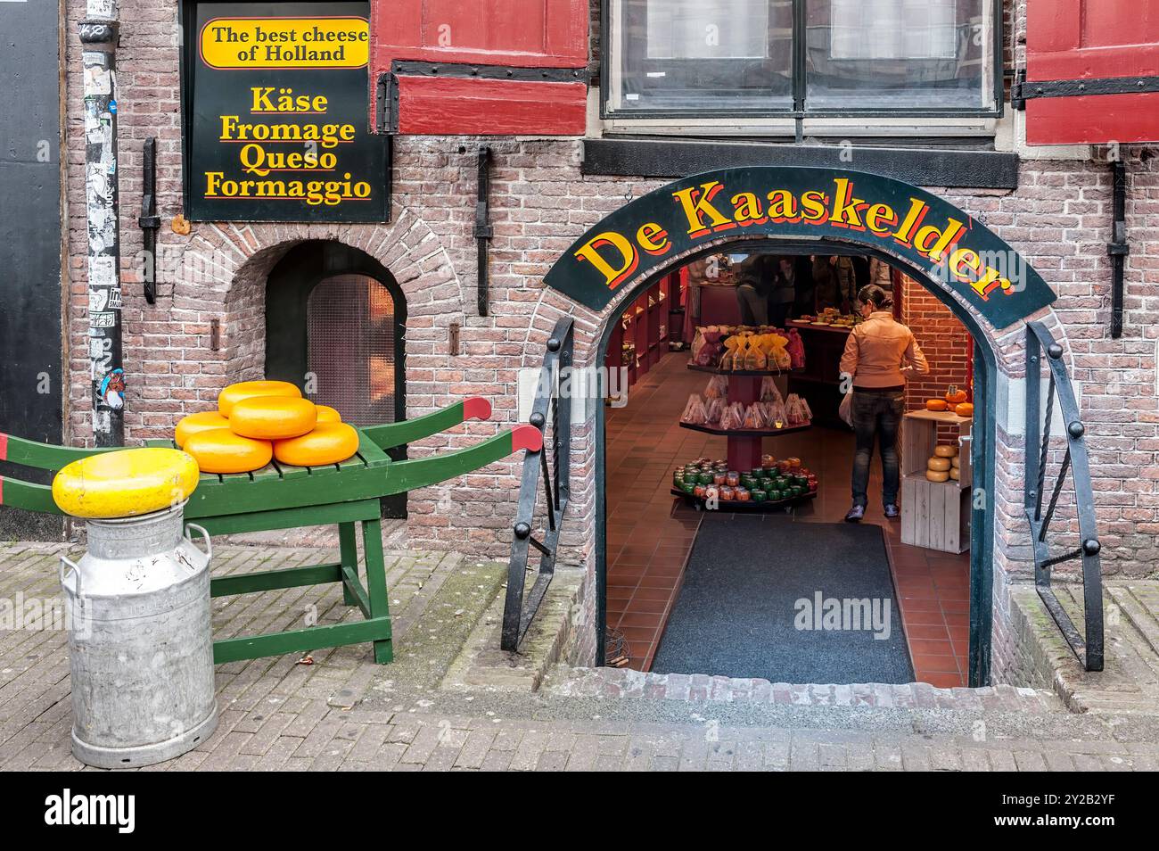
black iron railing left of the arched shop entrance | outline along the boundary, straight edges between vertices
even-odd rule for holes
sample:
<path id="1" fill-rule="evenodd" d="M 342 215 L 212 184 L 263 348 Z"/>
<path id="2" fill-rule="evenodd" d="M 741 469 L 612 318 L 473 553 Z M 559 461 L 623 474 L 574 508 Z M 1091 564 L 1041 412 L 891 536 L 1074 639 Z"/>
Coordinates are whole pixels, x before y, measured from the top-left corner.
<path id="1" fill-rule="evenodd" d="M 564 317 L 555 323 L 547 340 L 547 354 L 539 371 L 535 403 L 529 422 L 544 432 L 544 448 L 527 452 L 523 460 L 523 481 L 519 486 L 519 511 L 511 540 L 511 563 L 508 567 L 506 602 L 503 606 L 504 650 L 515 652 L 527 633 L 532 618 L 547 592 L 555 574 L 555 553 L 560 540 L 560 524 L 568 507 L 571 474 L 571 393 L 573 350 L 575 334 L 571 319 Z M 552 430 L 548 436 L 547 424 Z M 551 448 L 551 460 L 547 450 Z M 542 540 L 535 537 L 535 508 L 540 486 L 545 497 Z M 535 582 L 524 597 L 527 558 L 531 550 L 539 552 Z"/>

